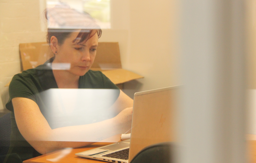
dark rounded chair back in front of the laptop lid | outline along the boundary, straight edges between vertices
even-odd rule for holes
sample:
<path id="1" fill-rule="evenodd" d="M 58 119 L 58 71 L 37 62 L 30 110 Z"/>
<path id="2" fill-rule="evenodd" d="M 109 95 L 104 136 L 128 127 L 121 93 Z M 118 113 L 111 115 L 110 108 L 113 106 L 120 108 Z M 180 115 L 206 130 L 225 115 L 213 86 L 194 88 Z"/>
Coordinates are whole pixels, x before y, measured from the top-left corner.
<path id="1" fill-rule="evenodd" d="M 130 163 L 174 163 L 174 150 L 171 142 L 154 144 L 141 150 Z"/>

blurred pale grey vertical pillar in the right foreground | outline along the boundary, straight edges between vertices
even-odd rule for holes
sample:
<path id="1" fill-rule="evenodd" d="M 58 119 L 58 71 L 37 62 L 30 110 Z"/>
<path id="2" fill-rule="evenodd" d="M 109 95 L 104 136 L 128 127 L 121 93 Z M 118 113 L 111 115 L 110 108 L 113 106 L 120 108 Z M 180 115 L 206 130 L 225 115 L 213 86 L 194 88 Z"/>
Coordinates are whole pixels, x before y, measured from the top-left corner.
<path id="1" fill-rule="evenodd" d="M 182 0 L 180 9 L 182 162 L 246 162 L 244 0 Z"/>

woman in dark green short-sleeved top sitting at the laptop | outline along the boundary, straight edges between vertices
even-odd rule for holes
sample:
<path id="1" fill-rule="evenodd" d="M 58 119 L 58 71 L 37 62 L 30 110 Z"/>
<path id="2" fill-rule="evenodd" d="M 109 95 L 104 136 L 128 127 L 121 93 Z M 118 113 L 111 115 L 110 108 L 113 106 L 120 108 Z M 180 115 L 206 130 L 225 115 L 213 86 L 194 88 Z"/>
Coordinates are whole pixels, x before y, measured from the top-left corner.
<path id="1" fill-rule="evenodd" d="M 97 26 L 90 17 L 88 18 L 88 15 L 86 17 L 80 15 L 82 18 L 76 21 L 80 14 L 78 12 L 75 12 L 75 20 L 63 16 L 63 14 L 59 14 L 58 19 L 54 19 L 54 14 L 56 17 L 58 13 L 69 12 L 74 13 L 75 11 L 65 7 L 48 10 L 46 16 L 54 25 L 48 29 L 47 41 L 54 57 L 37 68 L 28 69 L 15 75 L 10 83 L 10 100 L 6 104 L 6 108 L 12 111 L 12 134 L 7 162 L 14 162 L 15 158 L 24 161 L 64 147 L 86 146 L 92 142 L 72 140 L 80 140 L 81 136 L 105 139 L 125 133 L 131 127 L 133 100 L 121 90 L 119 91 L 116 85 L 100 71 L 90 70 L 96 56 L 101 29 L 95 28 Z M 60 23 L 58 24 L 60 19 L 62 24 L 69 26 L 60 28 Z M 66 22 L 63 23 L 65 19 Z M 49 65 L 55 63 L 70 63 L 70 68 L 67 70 L 49 69 Z M 50 88 L 118 89 L 119 96 L 113 104 L 118 115 L 93 124 L 52 129 L 42 114 L 41 108 L 44 103 L 40 96 L 40 92 Z"/>

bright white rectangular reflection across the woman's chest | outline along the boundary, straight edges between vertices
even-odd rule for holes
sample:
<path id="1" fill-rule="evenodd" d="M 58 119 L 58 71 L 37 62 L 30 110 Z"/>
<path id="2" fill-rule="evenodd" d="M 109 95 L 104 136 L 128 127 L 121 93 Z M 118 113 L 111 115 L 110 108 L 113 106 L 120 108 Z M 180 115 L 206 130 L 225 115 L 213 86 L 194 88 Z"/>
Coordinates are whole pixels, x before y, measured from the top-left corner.
<path id="1" fill-rule="evenodd" d="M 36 96 L 42 100 L 38 105 L 51 129 L 97 123 L 118 114 L 117 108 L 111 107 L 119 96 L 117 89 L 48 89 Z M 90 137 L 95 136 L 92 133 Z M 85 135 L 57 140 L 97 141 Z"/>

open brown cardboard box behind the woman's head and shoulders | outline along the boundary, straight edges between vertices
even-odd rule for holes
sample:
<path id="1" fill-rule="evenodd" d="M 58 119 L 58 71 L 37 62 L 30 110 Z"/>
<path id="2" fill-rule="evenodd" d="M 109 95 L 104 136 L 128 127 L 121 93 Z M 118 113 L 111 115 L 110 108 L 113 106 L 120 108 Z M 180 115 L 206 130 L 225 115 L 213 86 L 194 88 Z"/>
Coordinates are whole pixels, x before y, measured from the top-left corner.
<path id="1" fill-rule="evenodd" d="M 53 53 L 46 42 L 20 44 L 20 57 L 23 70 L 37 67 L 52 56 Z M 122 69 L 117 42 L 98 43 L 97 55 L 91 70 L 101 71 L 120 89 L 123 89 L 123 83 L 127 81 L 144 78 L 141 75 Z M 9 86 L 9 84 L 6 86 Z"/>

